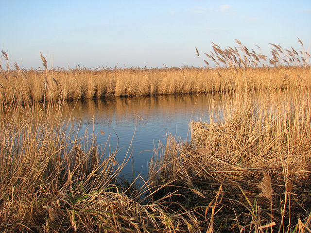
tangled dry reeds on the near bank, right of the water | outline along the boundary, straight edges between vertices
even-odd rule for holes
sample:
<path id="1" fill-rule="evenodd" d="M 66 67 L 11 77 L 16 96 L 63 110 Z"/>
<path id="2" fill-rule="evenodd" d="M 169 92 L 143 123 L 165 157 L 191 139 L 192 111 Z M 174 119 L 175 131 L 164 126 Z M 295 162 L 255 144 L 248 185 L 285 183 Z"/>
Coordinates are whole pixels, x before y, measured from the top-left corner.
<path id="1" fill-rule="evenodd" d="M 307 232 L 310 89 L 257 95 L 224 96 L 216 119 L 191 122 L 190 144 L 169 136 L 150 176 L 155 186 L 169 184 L 162 195 L 179 190 L 177 200 L 214 230 Z"/>

